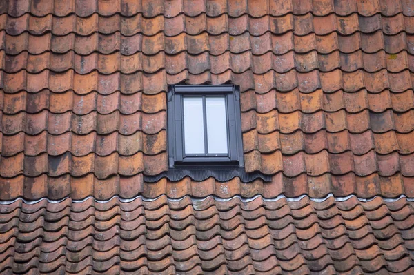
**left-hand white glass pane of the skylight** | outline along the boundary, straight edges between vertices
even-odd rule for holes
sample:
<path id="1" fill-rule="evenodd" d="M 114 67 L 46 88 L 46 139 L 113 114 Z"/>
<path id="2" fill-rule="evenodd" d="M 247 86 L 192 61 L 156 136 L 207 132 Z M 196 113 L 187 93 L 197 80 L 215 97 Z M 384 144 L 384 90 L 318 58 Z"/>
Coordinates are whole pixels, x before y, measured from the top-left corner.
<path id="1" fill-rule="evenodd" d="M 203 99 L 184 97 L 184 150 L 186 154 L 204 154 Z"/>

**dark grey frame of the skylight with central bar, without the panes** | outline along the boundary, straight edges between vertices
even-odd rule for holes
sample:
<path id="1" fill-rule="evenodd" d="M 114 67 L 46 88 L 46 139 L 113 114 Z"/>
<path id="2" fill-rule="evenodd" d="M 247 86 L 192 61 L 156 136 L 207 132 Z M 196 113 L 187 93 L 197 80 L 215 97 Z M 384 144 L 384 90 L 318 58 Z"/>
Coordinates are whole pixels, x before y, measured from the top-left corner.
<path id="1" fill-rule="evenodd" d="M 228 154 L 184 153 L 184 96 L 224 96 L 226 99 L 226 126 Z M 168 86 L 168 165 L 244 167 L 240 90 L 236 85 L 169 85 Z M 204 119 L 206 114 L 204 111 Z M 206 136 L 207 132 L 204 132 Z M 205 139 L 204 144 L 208 141 Z"/>

